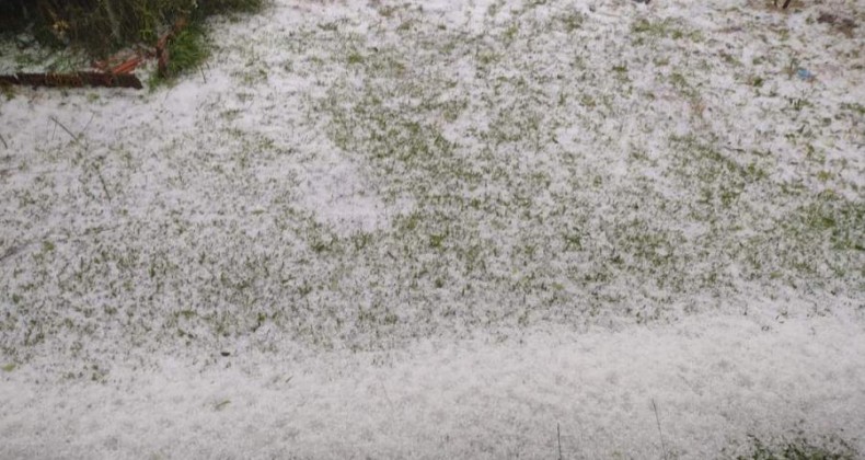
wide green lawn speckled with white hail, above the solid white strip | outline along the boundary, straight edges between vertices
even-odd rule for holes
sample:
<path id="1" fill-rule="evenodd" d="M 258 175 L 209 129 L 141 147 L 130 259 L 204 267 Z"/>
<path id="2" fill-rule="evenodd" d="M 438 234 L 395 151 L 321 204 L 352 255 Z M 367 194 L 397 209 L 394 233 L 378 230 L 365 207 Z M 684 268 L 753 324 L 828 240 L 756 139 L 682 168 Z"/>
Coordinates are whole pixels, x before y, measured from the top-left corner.
<path id="1" fill-rule="evenodd" d="M 334 18 L 255 36 L 187 30 L 172 72 L 197 71 L 210 49 L 232 62 L 237 88 L 208 95 L 158 160 L 67 118 L 78 141 L 58 128 L 13 160 L 30 171 L 3 184 L 14 212 L 72 206 L 115 223 L 54 230 L 4 263 L 3 352 L 26 361 L 64 340 L 70 363 L 99 360 L 85 344 L 103 323 L 131 348 L 195 353 L 278 331 L 381 349 L 477 327 L 673 322 L 791 289 L 856 296 L 855 164 L 827 143 L 853 136 L 858 106 L 834 107 L 829 136 L 815 120 L 833 99 L 777 93 L 784 56 L 685 58 L 669 43 L 695 46 L 684 20 L 622 22 L 634 38 L 623 43 L 589 16 L 530 7 L 487 14 L 478 34 L 411 5 L 382 7 L 364 33 Z M 741 92 L 728 90 L 736 81 Z M 753 108 L 756 90 L 774 130 L 724 125 Z M 332 179 L 327 154 L 357 177 Z M 154 189 L 175 202 L 149 208 L 141 196 Z M 334 222 L 331 200 L 387 217 Z M 706 298 L 724 301 L 694 300 Z"/>

